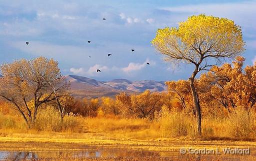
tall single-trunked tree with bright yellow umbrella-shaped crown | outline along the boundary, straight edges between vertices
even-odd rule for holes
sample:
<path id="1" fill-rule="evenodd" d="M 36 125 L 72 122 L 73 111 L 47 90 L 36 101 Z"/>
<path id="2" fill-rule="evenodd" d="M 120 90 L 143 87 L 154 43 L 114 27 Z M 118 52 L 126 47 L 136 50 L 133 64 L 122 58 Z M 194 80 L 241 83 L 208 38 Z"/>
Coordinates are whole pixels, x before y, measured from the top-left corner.
<path id="1" fill-rule="evenodd" d="M 241 27 L 227 18 L 193 15 L 180 22 L 177 28 L 158 29 L 151 43 L 165 56 L 164 60 L 194 65 L 189 84 L 197 114 L 197 131 L 201 135 L 201 109 L 195 76 L 224 58 L 234 58 L 243 52 Z"/>

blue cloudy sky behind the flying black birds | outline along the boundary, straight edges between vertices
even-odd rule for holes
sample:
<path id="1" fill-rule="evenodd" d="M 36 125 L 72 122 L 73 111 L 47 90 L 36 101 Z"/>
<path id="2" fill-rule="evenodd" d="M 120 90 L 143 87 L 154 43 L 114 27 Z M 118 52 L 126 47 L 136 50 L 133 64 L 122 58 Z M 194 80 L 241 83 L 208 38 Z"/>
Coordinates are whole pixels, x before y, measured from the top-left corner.
<path id="1" fill-rule="evenodd" d="M 0 0 L 0 63 L 42 55 L 57 60 L 63 75 L 187 79 L 192 66 L 163 61 L 150 41 L 157 28 L 177 27 L 188 16 L 204 13 L 242 27 L 245 65 L 252 65 L 255 8 L 256 0 Z"/>

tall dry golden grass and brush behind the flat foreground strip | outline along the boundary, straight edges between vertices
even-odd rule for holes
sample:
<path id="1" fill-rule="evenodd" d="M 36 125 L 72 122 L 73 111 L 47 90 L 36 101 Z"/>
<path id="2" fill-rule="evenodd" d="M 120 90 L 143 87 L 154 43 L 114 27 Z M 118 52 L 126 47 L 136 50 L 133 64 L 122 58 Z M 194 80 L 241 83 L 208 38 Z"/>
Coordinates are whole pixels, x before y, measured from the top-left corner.
<path id="1" fill-rule="evenodd" d="M 49 108 L 45 112 L 43 115 L 38 114 L 35 125 L 30 129 L 20 116 L 0 113 L 0 136 L 115 140 L 198 139 L 193 116 L 180 111 L 169 111 L 164 107 L 155 114 L 154 120 L 127 119 L 111 115 L 81 117 L 69 114 L 61 122 L 56 111 Z M 255 129 L 255 114 L 240 109 L 228 117 L 203 117 L 200 139 L 254 140 Z"/>

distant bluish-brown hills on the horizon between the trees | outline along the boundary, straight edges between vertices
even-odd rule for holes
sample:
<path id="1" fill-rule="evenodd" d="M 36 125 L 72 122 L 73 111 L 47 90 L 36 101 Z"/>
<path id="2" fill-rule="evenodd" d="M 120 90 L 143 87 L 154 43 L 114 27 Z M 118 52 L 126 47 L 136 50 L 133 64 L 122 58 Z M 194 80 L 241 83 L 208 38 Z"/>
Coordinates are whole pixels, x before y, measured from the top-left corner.
<path id="1" fill-rule="evenodd" d="M 125 91 L 126 93 L 166 90 L 164 81 L 140 80 L 131 81 L 127 79 L 113 79 L 109 81 L 98 81 L 84 76 L 66 75 L 66 80 L 71 83 L 71 93 L 75 97 L 101 97 L 114 95 Z"/>

